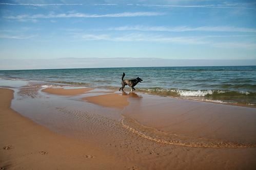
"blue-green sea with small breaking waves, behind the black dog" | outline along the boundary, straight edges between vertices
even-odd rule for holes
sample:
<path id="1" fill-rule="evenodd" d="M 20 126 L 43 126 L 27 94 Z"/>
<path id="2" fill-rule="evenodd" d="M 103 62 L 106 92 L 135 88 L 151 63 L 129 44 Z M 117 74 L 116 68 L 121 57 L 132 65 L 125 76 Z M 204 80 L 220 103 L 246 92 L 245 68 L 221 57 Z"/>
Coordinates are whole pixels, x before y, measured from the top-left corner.
<path id="1" fill-rule="evenodd" d="M 256 66 L 0 70 L 0 77 L 119 89 L 123 72 L 143 79 L 136 91 L 256 106 Z"/>

